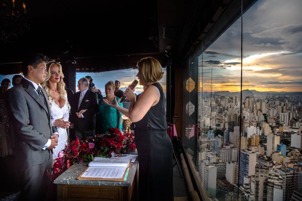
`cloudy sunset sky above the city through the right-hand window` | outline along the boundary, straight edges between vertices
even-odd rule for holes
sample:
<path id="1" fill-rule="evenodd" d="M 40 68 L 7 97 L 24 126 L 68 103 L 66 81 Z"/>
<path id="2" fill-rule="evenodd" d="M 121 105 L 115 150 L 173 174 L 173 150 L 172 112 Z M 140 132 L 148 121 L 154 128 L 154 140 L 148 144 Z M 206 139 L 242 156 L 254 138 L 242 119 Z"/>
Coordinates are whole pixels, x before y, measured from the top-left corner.
<path id="1" fill-rule="evenodd" d="M 259 0 L 243 14 L 243 89 L 302 91 L 301 8 L 300 0 Z M 199 57 L 203 91 L 240 91 L 242 19 Z"/>

